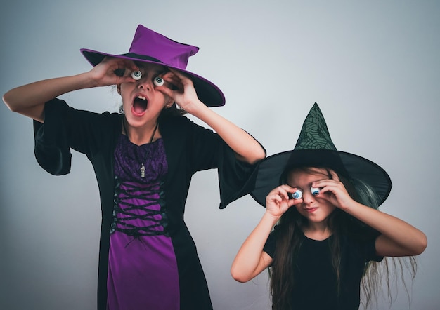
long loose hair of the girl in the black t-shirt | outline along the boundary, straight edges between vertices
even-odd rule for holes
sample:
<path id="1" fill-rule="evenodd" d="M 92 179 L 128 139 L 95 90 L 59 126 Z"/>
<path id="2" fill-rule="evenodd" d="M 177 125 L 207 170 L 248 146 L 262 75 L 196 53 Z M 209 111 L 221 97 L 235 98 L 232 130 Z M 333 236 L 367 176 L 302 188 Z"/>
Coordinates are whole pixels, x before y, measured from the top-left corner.
<path id="1" fill-rule="evenodd" d="M 332 178 L 330 170 L 322 167 L 290 168 L 287 171 L 287 175 L 299 171 L 311 174 L 320 173 L 316 168 L 326 170 L 327 177 L 330 179 Z M 342 184 L 344 184 L 344 187 L 347 189 L 351 198 L 359 203 L 368 205 L 371 208 L 377 208 L 377 196 L 368 184 L 359 180 L 351 180 L 341 174 L 338 174 L 338 177 Z M 339 208 L 336 208 L 332 214 L 328 216 L 327 224 L 332 232 L 332 238 L 329 239 L 329 245 L 332 255 L 332 266 L 335 269 L 337 278 L 337 292 L 339 294 L 341 274 L 340 243 L 342 236 L 350 234 L 354 238 L 362 240 L 364 238 L 378 236 L 379 233 L 351 215 L 344 213 L 344 211 Z M 299 214 L 297 208 L 293 207 L 289 208 L 278 222 L 273 263 L 271 267 L 268 267 L 269 276 L 271 278 L 273 310 L 293 309 L 291 297 L 295 286 L 294 264 L 297 253 L 302 245 L 302 234 L 306 225 L 306 218 Z M 411 276 L 414 277 L 417 269 L 415 257 L 409 257 L 409 265 Z M 403 279 L 403 267 L 408 267 L 408 264 L 399 258 L 384 257 L 382 264 L 379 264 L 378 262 L 368 262 L 368 264 L 365 264 L 364 276 L 361 281 L 361 288 L 363 291 L 362 303 L 365 307 L 367 307 L 373 299 L 377 300 L 377 292 L 382 288 L 382 274 L 384 275 L 384 282 L 388 288 L 389 300 L 392 300 L 390 293 L 391 290 L 389 290 L 390 266 L 394 267 L 394 271 L 400 271 L 401 278 Z M 407 289 L 406 292 L 408 293 Z"/>

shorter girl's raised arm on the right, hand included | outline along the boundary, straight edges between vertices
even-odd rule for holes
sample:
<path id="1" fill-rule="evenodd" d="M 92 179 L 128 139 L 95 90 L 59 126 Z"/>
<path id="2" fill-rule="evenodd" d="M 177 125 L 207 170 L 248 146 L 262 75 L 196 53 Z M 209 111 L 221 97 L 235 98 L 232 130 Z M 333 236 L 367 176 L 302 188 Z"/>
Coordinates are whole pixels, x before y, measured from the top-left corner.
<path id="1" fill-rule="evenodd" d="M 336 173 L 332 180 L 314 182 L 313 187 L 322 187 L 319 196 L 380 232 L 376 239 L 376 253 L 380 256 L 419 255 L 427 247 L 425 234 L 397 217 L 357 203 L 347 194 Z M 330 195 L 325 195 L 330 193 Z"/>

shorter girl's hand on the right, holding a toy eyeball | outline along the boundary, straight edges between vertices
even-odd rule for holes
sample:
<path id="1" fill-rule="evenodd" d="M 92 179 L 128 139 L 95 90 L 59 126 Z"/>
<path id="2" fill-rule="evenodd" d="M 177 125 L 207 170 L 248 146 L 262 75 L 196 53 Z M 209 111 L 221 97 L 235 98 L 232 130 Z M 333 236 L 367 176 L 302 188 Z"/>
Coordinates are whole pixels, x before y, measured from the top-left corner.
<path id="1" fill-rule="evenodd" d="M 319 180 L 311 184 L 312 187 L 321 188 L 316 198 L 326 199 L 337 208 L 347 211 L 355 201 L 351 198 L 347 189 L 345 189 L 344 184 L 339 181 L 339 177 L 335 171 L 330 170 L 330 174 L 332 175 L 332 179 Z"/>

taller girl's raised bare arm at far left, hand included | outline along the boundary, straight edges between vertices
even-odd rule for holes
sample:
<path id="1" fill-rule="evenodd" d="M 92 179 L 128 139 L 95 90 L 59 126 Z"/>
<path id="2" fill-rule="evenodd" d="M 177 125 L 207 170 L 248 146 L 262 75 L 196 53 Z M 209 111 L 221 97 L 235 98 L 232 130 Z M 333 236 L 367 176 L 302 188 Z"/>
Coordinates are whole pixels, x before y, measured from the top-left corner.
<path id="1" fill-rule="evenodd" d="M 117 76 L 115 69 L 136 69 L 134 62 L 118 58 L 106 58 L 91 71 L 74 76 L 37 81 L 9 90 L 3 101 L 13 112 L 18 112 L 37 121 L 44 121 L 44 103 L 72 90 L 109 86 L 134 82 L 131 76 Z"/>

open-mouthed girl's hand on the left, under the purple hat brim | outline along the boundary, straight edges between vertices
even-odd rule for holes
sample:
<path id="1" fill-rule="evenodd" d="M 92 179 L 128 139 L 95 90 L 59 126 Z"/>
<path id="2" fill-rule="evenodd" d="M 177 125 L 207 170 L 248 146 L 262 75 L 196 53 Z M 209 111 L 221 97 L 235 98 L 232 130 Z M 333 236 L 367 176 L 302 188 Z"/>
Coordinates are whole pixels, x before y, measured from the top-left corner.
<path id="1" fill-rule="evenodd" d="M 103 61 L 98 63 L 89 74 L 93 81 L 93 86 L 110 86 L 119 85 L 121 83 L 134 83 L 135 79 L 131 77 L 131 74 L 116 74 L 117 70 L 123 72 L 133 72 L 139 68 L 132 60 L 105 57 Z"/>

